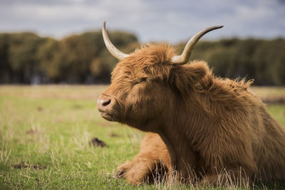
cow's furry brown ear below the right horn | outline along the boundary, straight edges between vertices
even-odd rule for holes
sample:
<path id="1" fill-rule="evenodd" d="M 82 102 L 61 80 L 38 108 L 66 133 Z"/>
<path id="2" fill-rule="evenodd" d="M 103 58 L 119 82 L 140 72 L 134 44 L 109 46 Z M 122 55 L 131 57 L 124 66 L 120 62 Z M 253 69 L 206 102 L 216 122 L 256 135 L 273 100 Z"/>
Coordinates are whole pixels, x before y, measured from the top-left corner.
<path id="1" fill-rule="evenodd" d="M 189 93 L 193 86 L 202 81 L 209 73 L 209 67 L 204 61 L 194 61 L 187 65 L 175 65 L 172 68 L 170 84 L 180 93 Z"/>

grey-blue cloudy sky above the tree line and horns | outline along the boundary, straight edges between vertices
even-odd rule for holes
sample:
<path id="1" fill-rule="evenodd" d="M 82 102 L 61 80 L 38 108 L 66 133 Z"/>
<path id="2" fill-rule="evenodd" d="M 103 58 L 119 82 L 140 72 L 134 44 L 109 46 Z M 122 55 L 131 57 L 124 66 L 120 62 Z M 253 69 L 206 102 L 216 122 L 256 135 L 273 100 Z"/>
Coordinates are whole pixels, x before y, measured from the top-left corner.
<path id="1" fill-rule="evenodd" d="M 135 33 L 140 42 L 285 37 L 284 0 L 0 0 L 0 32 L 34 31 L 62 38 L 102 27 Z"/>

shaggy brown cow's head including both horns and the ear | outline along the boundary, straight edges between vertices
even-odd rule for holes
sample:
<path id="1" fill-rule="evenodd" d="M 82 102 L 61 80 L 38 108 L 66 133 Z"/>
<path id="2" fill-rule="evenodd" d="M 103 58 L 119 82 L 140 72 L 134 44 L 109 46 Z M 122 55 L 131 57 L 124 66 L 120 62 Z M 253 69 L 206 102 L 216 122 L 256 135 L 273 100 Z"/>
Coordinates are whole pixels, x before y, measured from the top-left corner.
<path id="1" fill-rule="evenodd" d="M 195 43 L 205 33 L 222 26 L 200 31 L 188 41 L 181 56 L 165 43 L 148 44 L 130 55 L 120 52 L 110 42 L 103 24 L 103 39 L 110 53 L 120 62 L 113 70 L 111 84 L 98 98 L 103 118 L 145 129 L 148 122 L 175 112 L 177 100 L 188 95 L 207 74 L 207 64 L 185 65 Z"/>

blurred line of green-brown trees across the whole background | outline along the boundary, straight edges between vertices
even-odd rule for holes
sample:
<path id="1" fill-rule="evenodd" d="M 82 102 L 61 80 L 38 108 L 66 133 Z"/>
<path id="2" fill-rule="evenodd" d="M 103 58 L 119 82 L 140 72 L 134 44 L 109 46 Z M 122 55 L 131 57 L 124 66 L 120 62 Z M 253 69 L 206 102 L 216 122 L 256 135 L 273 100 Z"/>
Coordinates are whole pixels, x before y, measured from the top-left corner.
<path id="1" fill-rule="evenodd" d="M 138 48 L 133 33 L 113 31 L 110 40 L 125 53 Z M 181 53 L 185 43 L 177 44 Z M 285 40 L 199 41 L 191 59 L 205 60 L 221 77 L 254 79 L 255 85 L 285 85 Z M 61 40 L 36 33 L 0 33 L 0 83 L 109 83 L 118 62 L 105 48 L 101 31 Z"/>

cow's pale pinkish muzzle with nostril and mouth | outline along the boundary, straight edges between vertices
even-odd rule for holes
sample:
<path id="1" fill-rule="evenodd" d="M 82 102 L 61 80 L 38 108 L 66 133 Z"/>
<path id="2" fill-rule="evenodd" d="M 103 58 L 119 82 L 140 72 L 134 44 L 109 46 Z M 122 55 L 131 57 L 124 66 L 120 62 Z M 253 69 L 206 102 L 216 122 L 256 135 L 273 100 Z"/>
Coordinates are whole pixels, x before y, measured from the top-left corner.
<path id="1" fill-rule="evenodd" d="M 105 120 L 114 121 L 114 105 L 116 100 L 109 95 L 102 94 L 97 100 L 97 109 Z"/>

